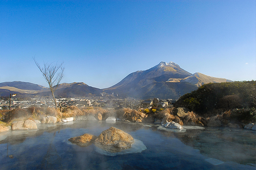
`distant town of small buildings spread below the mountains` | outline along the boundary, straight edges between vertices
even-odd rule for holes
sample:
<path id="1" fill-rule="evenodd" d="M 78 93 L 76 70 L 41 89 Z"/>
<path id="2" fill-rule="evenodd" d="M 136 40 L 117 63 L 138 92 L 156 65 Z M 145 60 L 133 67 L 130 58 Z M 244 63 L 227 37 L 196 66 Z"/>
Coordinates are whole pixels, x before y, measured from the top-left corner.
<path id="1" fill-rule="evenodd" d="M 172 105 L 176 102 L 175 99 L 148 99 L 138 100 L 133 98 L 116 99 L 116 98 L 104 98 L 104 97 L 93 97 L 93 98 L 59 98 L 56 99 L 58 106 L 68 107 L 102 107 L 104 109 L 114 108 L 148 108 L 150 109 L 153 104 L 158 107 L 165 107 Z M 28 108 L 28 107 L 55 107 L 54 101 L 50 97 L 31 98 L 30 100 L 17 100 L 17 98 L 11 98 L 11 110 L 14 108 Z M 3 99 L 0 101 L 0 110 L 9 109 L 9 99 Z"/>

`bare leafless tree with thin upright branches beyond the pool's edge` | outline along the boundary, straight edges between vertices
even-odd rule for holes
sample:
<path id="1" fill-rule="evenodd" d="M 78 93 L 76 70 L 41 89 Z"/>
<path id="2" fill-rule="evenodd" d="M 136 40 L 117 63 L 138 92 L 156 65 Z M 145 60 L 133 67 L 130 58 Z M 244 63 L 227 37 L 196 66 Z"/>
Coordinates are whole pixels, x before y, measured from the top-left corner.
<path id="1" fill-rule="evenodd" d="M 43 67 L 41 67 L 39 65 L 39 63 L 37 61 L 35 61 L 35 57 L 33 57 L 33 60 L 34 60 L 35 64 L 37 65 L 37 67 L 39 68 L 39 70 L 42 72 L 44 79 L 46 80 L 46 82 L 49 85 L 49 88 L 53 95 L 55 107 L 57 110 L 58 107 L 57 107 L 56 99 L 54 97 L 54 91 L 57 89 L 61 79 L 63 78 L 63 72 L 65 69 L 65 67 L 63 66 L 64 62 L 62 62 L 61 64 L 44 63 Z"/>

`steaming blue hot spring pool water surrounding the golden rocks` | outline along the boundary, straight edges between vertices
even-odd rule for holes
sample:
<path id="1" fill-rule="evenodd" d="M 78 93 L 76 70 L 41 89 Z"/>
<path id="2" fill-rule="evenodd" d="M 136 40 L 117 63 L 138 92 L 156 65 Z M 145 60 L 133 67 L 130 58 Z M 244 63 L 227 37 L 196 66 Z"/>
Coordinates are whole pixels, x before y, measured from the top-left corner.
<path id="1" fill-rule="evenodd" d="M 73 123 L 73 124 L 72 124 Z M 141 153 L 106 156 L 95 146 L 71 145 L 70 137 L 99 135 L 114 126 L 144 143 Z M 178 169 L 255 170 L 256 132 L 244 129 L 187 129 L 164 132 L 127 122 L 40 125 L 37 131 L 1 133 L 0 169 Z M 212 162 L 211 162 L 212 161 Z M 219 165 L 214 165 L 218 163 Z"/>

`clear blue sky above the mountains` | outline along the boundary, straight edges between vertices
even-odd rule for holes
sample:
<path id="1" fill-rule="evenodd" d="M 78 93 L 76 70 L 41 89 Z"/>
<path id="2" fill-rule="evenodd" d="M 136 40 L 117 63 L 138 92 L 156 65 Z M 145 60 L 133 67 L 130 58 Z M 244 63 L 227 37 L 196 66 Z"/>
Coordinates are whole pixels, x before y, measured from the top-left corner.
<path id="1" fill-rule="evenodd" d="M 0 82 L 47 87 L 33 56 L 97 88 L 161 61 L 256 80 L 256 0 L 0 0 Z"/>

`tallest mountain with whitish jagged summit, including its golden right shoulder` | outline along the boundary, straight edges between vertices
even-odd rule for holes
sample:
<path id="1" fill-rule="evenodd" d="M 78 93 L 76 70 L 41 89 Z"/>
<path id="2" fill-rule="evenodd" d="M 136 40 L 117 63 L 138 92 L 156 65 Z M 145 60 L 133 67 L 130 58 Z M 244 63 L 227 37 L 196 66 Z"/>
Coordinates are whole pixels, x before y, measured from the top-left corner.
<path id="1" fill-rule="evenodd" d="M 145 71 L 133 72 L 112 87 L 103 89 L 120 97 L 135 98 L 179 98 L 210 82 L 226 82 L 227 79 L 213 78 L 201 73 L 191 74 L 173 62 L 160 62 Z"/>

